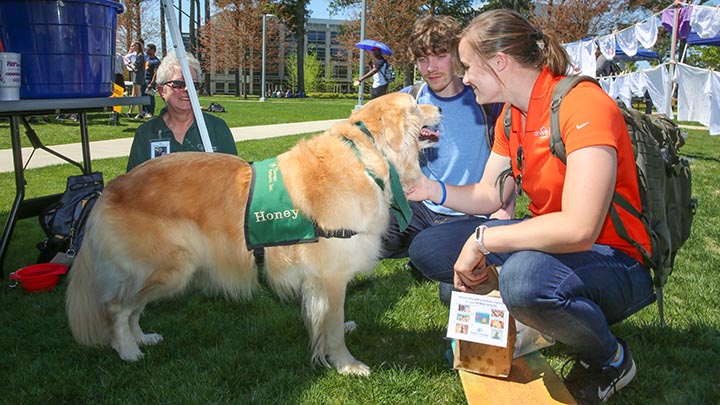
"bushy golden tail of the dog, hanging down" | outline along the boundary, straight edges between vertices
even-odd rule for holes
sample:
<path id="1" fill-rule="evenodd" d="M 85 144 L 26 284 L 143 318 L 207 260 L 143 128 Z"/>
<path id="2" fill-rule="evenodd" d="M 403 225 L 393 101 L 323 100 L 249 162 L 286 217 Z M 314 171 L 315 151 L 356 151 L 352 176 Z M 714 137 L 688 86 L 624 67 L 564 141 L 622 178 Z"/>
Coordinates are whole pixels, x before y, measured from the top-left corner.
<path id="1" fill-rule="evenodd" d="M 86 242 L 89 241 L 86 239 Z M 70 330 L 78 343 L 102 345 L 110 341 L 110 328 L 94 282 L 93 247 L 90 243 L 83 243 L 83 247 L 68 274 L 65 311 Z"/>

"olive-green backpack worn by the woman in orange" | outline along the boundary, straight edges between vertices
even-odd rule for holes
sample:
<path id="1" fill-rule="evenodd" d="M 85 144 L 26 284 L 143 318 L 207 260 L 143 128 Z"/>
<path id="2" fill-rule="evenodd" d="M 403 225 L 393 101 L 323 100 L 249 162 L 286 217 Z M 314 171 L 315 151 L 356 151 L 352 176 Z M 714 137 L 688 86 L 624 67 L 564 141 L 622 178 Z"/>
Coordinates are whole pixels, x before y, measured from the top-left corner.
<path id="1" fill-rule="evenodd" d="M 567 93 L 583 81 L 598 82 L 589 76 L 568 76 L 555 86 L 550 104 L 550 149 L 566 162 L 565 144 L 560 134 L 560 104 Z M 620 194 L 613 195 L 610 219 L 618 235 L 640 252 L 643 264 L 653 270 L 655 296 L 660 323 L 665 326 L 662 288 L 667 283 L 675 263 L 675 255 L 690 237 L 693 216 L 698 201 L 692 197 L 690 163 L 678 155 L 685 144 L 677 124 L 665 115 L 647 115 L 627 108 L 616 101 L 625 118 L 635 153 L 635 166 L 640 188 L 642 212 L 638 212 Z M 505 110 L 503 124 L 510 138 L 511 108 Z M 652 253 L 632 240 L 620 220 L 617 210 L 623 209 L 640 218 L 650 235 Z"/>

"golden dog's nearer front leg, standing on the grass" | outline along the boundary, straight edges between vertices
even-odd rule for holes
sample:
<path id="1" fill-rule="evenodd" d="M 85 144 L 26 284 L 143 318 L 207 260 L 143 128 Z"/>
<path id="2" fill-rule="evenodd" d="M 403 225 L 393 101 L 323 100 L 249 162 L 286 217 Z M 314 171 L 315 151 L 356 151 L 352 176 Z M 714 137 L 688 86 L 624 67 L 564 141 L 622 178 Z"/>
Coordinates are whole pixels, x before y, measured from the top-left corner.
<path id="1" fill-rule="evenodd" d="M 370 367 L 355 359 L 345 346 L 344 277 L 308 279 L 303 286 L 303 313 L 313 341 L 313 359 L 340 374 L 369 375 Z M 342 279 L 338 279 L 342 278 Z"/>

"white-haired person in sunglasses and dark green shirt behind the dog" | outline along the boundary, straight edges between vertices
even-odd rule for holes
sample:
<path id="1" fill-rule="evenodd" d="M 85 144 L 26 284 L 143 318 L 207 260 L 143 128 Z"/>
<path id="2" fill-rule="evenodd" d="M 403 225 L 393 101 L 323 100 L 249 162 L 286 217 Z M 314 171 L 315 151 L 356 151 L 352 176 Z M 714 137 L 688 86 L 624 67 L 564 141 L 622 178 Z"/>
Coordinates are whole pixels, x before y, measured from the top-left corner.
<path id="1" fill-rule="evenodd" d="M 197 80 L 202 76 L 200 62 L 191 54 L 187 54 L 187 62 L 193 82 L 196 82 L 195 88 L 199 88 Z M 157 91 L 165 101 L 165 108 L 157 117 L 143 123 L 135 131 L 135 137 L 130 147 L 127 171 L 157 157 L 154 151 L 160 150 L 163 154 L 205 151 L 200 130 L 195 122 L 180 61 L 175 53 L 169 53 L 160 62 L 156 80 Z M 204 112 L 202 114 L 213 151 L 237 155 L 235 141 L 225 121 L 211 114 Z"/>

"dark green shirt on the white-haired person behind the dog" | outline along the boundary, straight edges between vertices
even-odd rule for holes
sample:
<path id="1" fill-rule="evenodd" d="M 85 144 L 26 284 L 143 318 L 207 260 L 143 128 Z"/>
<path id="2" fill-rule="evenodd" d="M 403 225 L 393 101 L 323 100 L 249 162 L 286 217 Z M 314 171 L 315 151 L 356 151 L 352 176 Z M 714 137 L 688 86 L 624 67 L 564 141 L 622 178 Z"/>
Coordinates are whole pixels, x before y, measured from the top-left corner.
<path id="1" fill-rule="evenodd" d="M 162 111 L 160 111 L 160 115 L 140 125 L 135 131 L 135 138 L 133 139 L 132 146 L 130 147 L 130 157 L 128 158 L 127 171 L 130 171 L 133 167 L 145 162 L 146 160 L 150 160 L 150 142 L 153 139 L 169 140 L 170 153 L 205 151 L 202 144 L 202 138 L 200 138 L 200 130 L 198 129 L 197 123 L 193 122 L 192 126 L 188 128 L 185 138 L 183 139 L 183 143 L 181 144 L 175 140 L 175 136 L 172 131 L 167 127 L 167 125 L 165 125 L 165 120 L 162 119 L 166 112 L 167 108 L 163 108 Z M 214 115 L 206 114 L 205 112 L 202 114 L 205 119 L 205 126 L 208 129 L 208 135 L 210 137 L 210 143 L 213 146 L 213 151 L 237 156 L 235 140 L 233 139 L 230 128 L 228 128 L 225 121 Z"/>

